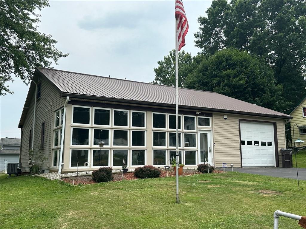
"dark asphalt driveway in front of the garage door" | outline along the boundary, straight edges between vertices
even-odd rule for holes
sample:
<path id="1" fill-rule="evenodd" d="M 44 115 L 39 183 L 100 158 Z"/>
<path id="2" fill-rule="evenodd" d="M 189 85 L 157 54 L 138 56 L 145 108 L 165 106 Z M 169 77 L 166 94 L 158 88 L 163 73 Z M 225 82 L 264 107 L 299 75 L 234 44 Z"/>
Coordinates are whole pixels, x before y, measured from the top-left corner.
<path id="1" fill-rule="evenodd" d="M 232 169 L 226 168 L 226 171 L 232 171 Z M 297 168 L 234 168 L 234 171 L 240 173 L 297 179 Z M 299 180 L 306 180 L 306 169 L 298 168 L 298 174 Z"/>

